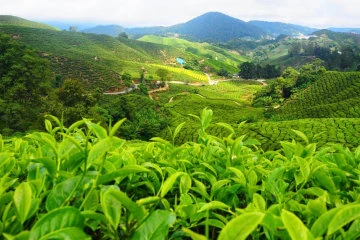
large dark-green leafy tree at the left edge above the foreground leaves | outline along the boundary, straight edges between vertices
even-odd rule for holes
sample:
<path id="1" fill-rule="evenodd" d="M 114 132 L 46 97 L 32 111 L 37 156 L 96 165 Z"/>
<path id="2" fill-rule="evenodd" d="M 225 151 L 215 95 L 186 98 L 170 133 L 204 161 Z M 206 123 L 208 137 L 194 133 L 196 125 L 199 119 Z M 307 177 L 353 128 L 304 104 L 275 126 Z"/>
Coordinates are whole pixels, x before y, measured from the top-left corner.
<path id="1" fill-rule="evenodd" d="M 0 130 L 33 126 L 50 91 L 49 62 L 37 52 L 0 34 Z"/>

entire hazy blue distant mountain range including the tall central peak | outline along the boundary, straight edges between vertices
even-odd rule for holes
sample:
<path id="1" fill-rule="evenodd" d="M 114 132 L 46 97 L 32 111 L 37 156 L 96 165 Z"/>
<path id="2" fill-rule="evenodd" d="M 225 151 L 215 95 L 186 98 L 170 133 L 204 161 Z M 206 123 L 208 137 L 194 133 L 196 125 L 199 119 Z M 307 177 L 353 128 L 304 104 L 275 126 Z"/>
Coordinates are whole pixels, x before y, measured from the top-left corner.
<path id="1" fill-rule="evenodd" d="M 209 12 L 198 16 L 186 23 L 176 24 L 169 27 L 144 27 L 144 28 L 123 28 L 116 25 L 103 25 L 94 28 L 84 29 L 83 32 L 108 34 L 117 36 L 121 32 L 139 38 L 144 35 L 169 35 L 176 34 L 182 38 L 196 41 L 217 41 L 227 42 L 235 38 L 277 37 L 285 35 L 308 35 L 319 29 L 300 26 L 295 24 L 267 21 L 245 22 L 219 12 Z M 331 28 L 336 32 L 357 32 L 357 28 Z"/>

